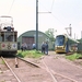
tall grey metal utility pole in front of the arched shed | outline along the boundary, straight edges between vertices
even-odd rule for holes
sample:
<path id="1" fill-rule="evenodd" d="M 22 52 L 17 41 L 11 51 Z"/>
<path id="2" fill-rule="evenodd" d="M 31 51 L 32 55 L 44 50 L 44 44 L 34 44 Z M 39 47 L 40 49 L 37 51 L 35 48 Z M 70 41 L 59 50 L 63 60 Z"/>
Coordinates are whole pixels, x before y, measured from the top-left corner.
<path id="1" fill-rule="evenodd" d="M 36 0 L 36 50 L 38 50 L 38 0 Z"/>

